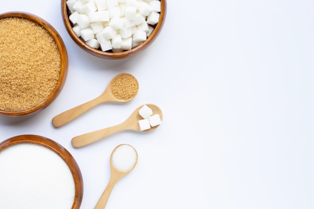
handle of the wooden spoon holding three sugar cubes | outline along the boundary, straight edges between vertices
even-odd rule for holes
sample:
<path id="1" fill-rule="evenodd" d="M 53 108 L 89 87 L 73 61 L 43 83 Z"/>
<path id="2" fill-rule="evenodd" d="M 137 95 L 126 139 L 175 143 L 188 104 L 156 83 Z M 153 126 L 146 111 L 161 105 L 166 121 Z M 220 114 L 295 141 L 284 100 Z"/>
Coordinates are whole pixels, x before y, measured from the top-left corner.
<path id="1" fill-rule="evenodd" d="M 114 125 L 108 128 L 103 128 L 97 131 L 92 131 L 79 136 L 75 136 L 72 138 L 71 143 L 74 147 L 81 147 L 87 144 L 91 144 L 123 129 L 124 126 L 122 126 L 122 124 Z"/>

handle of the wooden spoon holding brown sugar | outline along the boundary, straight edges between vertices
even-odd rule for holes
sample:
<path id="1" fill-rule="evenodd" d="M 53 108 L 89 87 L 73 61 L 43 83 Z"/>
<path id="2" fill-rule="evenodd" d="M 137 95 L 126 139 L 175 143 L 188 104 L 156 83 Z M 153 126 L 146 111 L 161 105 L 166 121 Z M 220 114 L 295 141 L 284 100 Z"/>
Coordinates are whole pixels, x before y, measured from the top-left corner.
<path id="1" fill-rule="evenodd" d="M 68 122 L 72 121 L 73 119 L 77 118 L 81 114 L 85 113 L 87 110 L 95 107 L 96 105 L 102 103 L 100 97 L 97 97 L 93 100 L 90 100 L 88 102 L 85 102 L 79 106 L 73 107 L 72 109 L 69 109 L 63 113 L 60 113 L 59 115 L 55 116 L 52 119 L 52 124 L 55 127 L 63 126 L 64 124 L 67 124 Z"/>

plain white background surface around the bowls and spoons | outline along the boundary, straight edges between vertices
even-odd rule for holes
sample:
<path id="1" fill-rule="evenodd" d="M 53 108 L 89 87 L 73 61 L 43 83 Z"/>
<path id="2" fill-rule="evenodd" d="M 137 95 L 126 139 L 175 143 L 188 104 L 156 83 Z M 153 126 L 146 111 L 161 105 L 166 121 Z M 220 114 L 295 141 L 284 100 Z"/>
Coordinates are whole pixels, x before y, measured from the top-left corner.
<path id="1" fill-rule="evenodd" d="M 108 209 L 314 208 L 314 1 L 167 3 L 160 36 L 124 60 L 93 57 L 76 46 L 61 1 L 2 4 L 0 13 L 33 13 L 60 33 L 69 72 L 43 112 L 1 117 L 0 141 L 37 134 L 68 149 L 83 175 L 82 209 L 94 208 L 109 180 L 109 155 L 121 143 L 134 146 L 139 158 L 113 188 Z M 131 102 L 104 103 L 53 127 L 55 115 L 95 98 L 122 72 L 139 81 Z M 145 103 L 163 110 L 158 129 L 72 147 L 72 137 L 118 124 Z"/>

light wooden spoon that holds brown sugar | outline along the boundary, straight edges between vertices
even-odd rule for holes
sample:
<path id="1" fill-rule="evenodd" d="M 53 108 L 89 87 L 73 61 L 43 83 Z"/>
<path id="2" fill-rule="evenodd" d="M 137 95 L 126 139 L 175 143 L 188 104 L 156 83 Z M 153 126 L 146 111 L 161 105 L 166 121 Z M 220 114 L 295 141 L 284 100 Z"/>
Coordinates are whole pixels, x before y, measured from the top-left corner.
<path id="1" fill-rule="evenodd" d="M 131 76 L 131 80 L 133 80 L 136 85 L 131 85 L 131 84 L 128 84 L 127 82 L 122 83 L 122 81 L 121 81 L 121 88 L 112 89 L 111 84 L 114 81 L 116 81 L 117 79 L 119 79 L 120 77 L 122 78 L 123 76 Z M 131 90 L 133 92 L 132 97 L 128 97 L 127 99 L 117 98 L 116 93 L 127 94 L 127 90 L 128 90 L 127 88 L 131 88 Z M 77 118 L 78 116 L 80 116 L 81 114 L 85 113 L 87 110 L 89 110 L 89 109 L 91 109 L 91 108 L 95 107 L 96 105 L 103 103 L 103 102 L 109 102 L 109 101 L 111 101 L 111 102 L 128 102 L 137 95 L 137 92 L 138 92 L 138 82 L 134 76 L 132 76 L 131 74 L 128 74 L 128 73 L 118 74 L 111 79 L 109 85 L 107 86 L 105 91 L 100 96 L 98 96 L 97 98 L 90 100 L 84 104 L 76 106 L 70 110 L 67 110 L 63 113 L 60 113 L 59 115 L 55 116 L 52 119 L 52 124 L 55 127 L 63 126 L 64 124 L 70 122 L 71 120 L 73 120 L 73 119 Z"/>

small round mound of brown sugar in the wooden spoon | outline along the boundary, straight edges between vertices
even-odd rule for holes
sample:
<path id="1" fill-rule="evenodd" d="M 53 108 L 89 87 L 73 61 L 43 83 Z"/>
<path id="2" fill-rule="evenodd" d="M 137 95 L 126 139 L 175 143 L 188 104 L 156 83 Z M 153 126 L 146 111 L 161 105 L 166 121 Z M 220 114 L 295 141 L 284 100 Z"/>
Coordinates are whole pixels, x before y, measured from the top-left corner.
<path id="1" fill-rule="evenodd" d="M 129 100 L 138 92 L 138 82 L 130 74 L 120 74 L 111 81 L 111 93 L 119 100 Z"/>

